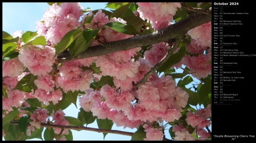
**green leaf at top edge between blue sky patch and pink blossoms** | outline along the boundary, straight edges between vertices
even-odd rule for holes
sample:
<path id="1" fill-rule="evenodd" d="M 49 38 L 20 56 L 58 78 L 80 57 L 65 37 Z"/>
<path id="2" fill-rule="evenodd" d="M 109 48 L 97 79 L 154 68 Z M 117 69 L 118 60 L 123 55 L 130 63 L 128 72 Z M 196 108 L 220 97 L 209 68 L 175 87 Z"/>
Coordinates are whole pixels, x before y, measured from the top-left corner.
<path id="1" fill-rule="evenodd" d="M 126 5 L 119 7 L 117 10 L 115 10 L 112 14 L 112 18 L 125 18 L 126 16 L 135 16 L 133 11 L 129 9 L 130 3 L 127 3 Z"/>

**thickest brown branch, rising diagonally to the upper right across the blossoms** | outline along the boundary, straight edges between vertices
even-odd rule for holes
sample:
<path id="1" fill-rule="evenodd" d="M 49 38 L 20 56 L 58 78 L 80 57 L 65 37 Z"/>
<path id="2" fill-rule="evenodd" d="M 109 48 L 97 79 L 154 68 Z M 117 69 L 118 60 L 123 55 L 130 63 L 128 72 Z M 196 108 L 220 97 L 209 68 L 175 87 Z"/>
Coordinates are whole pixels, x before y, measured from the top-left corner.
<path id="1" fill-rule="evenodd" d="M 167 28 L 160 29 L 159 31 L 145 34 L 141 36 L 134 36 L 124 40 L 118 40 L 113 42 L 108 42 L 105 46 L 97 45 L 89 47 L 83 53 L 77 55 L 75 58 L 70 58 L 71 55 L 68 53 L 60 53 L 57 56 L 57 61 L 59 63 L 66 62 L 72 59 L 83 59 L 89 57 L 97 57 L 100 55 L 105 55 L 113 53 L 115 51 L 129 50 L 135 47 L 147 46 L 156 44 L 162 41 L 168 41 L 173 37 L 181 36 L 182 33 L 187 33 L 190 29 L 195 28 L 201 24 L 207 23 L 212 20 L 212 12 L 209 11 L 208 14 L 202 14 L 200 12 L 195 12 L 190 14 L 187 18 L 180 20 L 179 22 L 170 25 Z M 183 35 L 182 35 L 183 36 Z M 125 45 L 125 46 L 124 46 Z M 61 58 L 67 58 L 65 60 Z"/>

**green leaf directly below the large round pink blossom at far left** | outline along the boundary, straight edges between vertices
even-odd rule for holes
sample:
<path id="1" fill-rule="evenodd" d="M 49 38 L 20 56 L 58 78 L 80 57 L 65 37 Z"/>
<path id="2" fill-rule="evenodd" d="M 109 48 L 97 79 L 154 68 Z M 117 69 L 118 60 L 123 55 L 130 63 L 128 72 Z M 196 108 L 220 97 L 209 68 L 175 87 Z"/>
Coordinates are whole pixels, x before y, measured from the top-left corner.
<path id="1" fill-rule="evenodd" d="M 15 86 L 15 89 L 18 89 L 22 92 L 27 92 L 30 93 L 32 89 L 34 89 L 34 91 L 36 90 L 35 88 L 36 85 L 34 83 L 34 81 L 38 78 L 38 76 L 34 76 L 32 73 L 29 73 L 28 75 L 24 76 Z"/>

